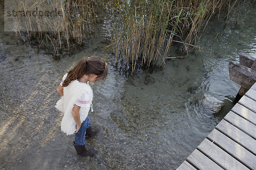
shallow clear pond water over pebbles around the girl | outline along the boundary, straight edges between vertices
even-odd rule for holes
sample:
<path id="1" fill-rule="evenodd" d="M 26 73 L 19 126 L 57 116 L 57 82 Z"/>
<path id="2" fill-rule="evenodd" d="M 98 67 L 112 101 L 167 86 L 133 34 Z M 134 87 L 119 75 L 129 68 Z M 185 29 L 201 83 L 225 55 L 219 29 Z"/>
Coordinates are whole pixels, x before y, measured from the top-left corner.
<path id="1" fill-rule="evenodd" d="M 243 23 L 230 21 L 224 29 L 224 18 L 208 23 L 200 41 L 204 65 L 199 54 L 189 54 L 133 78 L 120 75 L 111 49 L 102 49 L 104 25 L 79 53 L 55 61 L 3 32 L 1 10 L 0 169 L 176 169 L 233 107 L 239 85 L 229 79 L 228 63 L 241 51 L 256 57 L 256 9 L 250 2 L 240 6 Z M 105 84 L 91 83 L 89 117 L 100 132 L 86 144 L 98 153 L 80 157 L 74 136 L 60 130 L 55 89 L 79 59 L 95 54 L 109 64 Z M 205 94 L 225 103 L 220 113 L 201 105 Z"/>

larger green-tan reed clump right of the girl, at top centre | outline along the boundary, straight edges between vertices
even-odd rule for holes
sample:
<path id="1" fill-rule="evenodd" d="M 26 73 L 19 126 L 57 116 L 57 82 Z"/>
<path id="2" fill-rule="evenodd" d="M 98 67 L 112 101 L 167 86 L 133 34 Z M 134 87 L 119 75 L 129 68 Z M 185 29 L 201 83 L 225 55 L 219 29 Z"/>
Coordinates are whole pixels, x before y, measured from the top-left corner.
<path id="1" fill-rule="evenodd" d="M 186 57 L 198 50 L 201 35 L 214 14 L 237 0 L 133 0 L 119 4 L 123 11 L 121 34 L 113 44 L 116 62 L 131 73 L 140 66 L 152 68 L 166 59 Z M 227 16 L 228 17 L 228 16 Z M 201 32 L 200 32 L 201 31 Z M 180 56 L 169 56 L 173 43 L 182 45 Z"/>

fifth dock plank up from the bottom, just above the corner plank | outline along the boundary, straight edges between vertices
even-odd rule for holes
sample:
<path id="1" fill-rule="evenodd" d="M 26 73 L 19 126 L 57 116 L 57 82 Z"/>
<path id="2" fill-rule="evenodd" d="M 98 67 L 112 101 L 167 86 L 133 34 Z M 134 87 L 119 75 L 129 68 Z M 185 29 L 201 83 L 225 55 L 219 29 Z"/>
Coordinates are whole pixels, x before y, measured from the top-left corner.
<path id="1" fill-rule="evenodd" d="M 231 125 L 226 120 L 222 120 L 215 128 L 220 130 L 226 136 L 229 136 L 247 150 L 250 150 L 253 154 L 256 154 L 256 140 L 239 130 L 237 127 Z"/>

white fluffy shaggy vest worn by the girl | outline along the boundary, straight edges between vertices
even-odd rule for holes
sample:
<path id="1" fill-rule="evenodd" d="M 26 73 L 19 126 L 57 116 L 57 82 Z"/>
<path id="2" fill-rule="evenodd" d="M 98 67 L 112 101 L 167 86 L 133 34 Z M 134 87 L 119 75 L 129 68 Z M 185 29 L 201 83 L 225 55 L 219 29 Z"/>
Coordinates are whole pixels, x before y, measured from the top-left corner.
<path id="1" fill-rule="evenodd" d="M 76 122 L 72 115 L 72 109 L 75 105 L 75 102 L 80 99 L 84 92 L 89 94 L 91 105 L 93 100 L 93 91 L 90 85 L 87 83 L 81 83 L 78 80 L 72 81 L 67 87 L 63 88 L 64 95 L 55 105 L 55 108 L 64 113 L 63 119 L 61 121 L 61 131 L 67 133 L 67 135 L 72 135 L 76 131 Z M 86 119 L 89 110 L 90 107 L 80 108 L 79 114 L 81 122 Z"/>

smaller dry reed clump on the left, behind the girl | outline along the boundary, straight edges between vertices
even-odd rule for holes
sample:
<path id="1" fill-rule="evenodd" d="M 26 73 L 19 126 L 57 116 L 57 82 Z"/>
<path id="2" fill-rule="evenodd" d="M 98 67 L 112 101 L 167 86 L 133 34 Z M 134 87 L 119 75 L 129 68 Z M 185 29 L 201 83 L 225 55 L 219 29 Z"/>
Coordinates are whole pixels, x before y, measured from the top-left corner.
<path id="1" fill-rule="evenodd" d="M 15 26 L 20 37 L 32 42 L 40 40 L 40 45 L 53 47 L 56 52 L 63 48 L 80 46 L 85 38 L 93 32 L 92 24 L 96 23 L 94 11 L 96 3 L 93 0 L 19 0 L 18 11 L 54 11 L 53 17 L 26 16 L 24 22 L 21 14 L 16 17 Z M 23 36 L 23 34 L 27 36 Z"/>

